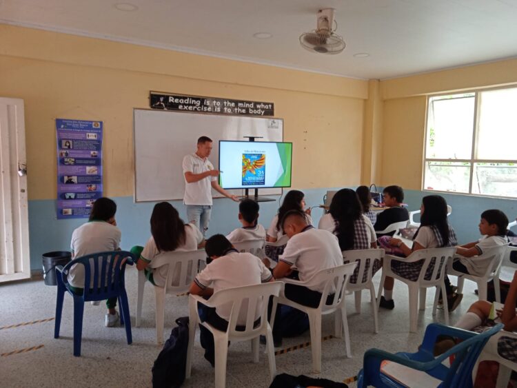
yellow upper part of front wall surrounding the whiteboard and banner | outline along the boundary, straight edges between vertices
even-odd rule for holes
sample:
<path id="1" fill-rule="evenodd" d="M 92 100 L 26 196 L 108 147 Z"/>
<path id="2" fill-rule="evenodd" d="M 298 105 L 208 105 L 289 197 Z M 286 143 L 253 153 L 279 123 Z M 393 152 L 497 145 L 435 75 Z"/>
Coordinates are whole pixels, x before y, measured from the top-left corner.
<path id="1" fill-rule="evenodd" d="M 0 42 L 0 96 L 25 101 L 31 200 L 56 197 L 56 118 L 104 122 L 105 195 L 132 196 L 132 109 L 150 90 L 273 102 L 295 187 L 360 181 L 367 81 L 9 25 Z"/>

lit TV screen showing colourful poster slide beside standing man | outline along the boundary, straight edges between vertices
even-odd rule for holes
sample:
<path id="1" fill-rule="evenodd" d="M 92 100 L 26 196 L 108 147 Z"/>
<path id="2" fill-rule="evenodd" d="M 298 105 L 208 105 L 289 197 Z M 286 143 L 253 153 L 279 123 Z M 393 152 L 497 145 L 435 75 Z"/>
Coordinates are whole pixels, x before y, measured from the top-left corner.
<path id="1" fill-rule="evenodd" d="M 219 185 L 225 189 L 291 187 L 292 143 L 219 141 Z"/>

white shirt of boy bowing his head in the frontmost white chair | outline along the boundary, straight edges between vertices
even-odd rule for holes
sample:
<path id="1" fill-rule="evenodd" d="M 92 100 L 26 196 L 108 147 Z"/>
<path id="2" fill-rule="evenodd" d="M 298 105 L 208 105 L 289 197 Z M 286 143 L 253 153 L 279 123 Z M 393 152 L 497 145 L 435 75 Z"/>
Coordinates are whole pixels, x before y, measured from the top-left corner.
<path id="1" fill-rule="evenodd" d="M 262 263 L 261 259 L 247 252 L 236 252 L 232 249 L 225 256 L 216 258 L 207 265 L 203 271 L 196 275 L 194 283 L 205 289 L 214 288 L 214 294 L 232 287 L 243 287 L 245 285 L 257 285 L 271 280 L 273 275 Z M 261 303 L 257 303 L 255 319 L 260 317 Z M 226 303 L 216 307 L 216 313 L 225 320 L 230 320 L 232 304 Z M 237 318 L 238 325 L 246 324 L 247 309 L 241 309 Z"/>

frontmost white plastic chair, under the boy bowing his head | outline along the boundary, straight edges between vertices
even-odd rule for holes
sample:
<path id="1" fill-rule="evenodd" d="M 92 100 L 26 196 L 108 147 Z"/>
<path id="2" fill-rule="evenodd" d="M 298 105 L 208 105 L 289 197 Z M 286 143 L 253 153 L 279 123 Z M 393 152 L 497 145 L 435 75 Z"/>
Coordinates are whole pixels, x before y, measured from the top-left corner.
<path id="1" fill-rule="evenodd" d="M 215 344 L 215 386 L 223 388 L 226 384 L 226 362 L 228 354 L 228 341 L 240 342 L 251 340 L 253 362 L 259 362 L 259 336 L 263 335 L 267 339 L 266 352 L 270 364 L 270 378 L 273 380 L 276 375 L 276 363 L 274 359 L 273 334 L 270 324 L 267 322 L 267 303 L 270 296 L 278 296 L 284 285 L 282 282 L 263 283 L 259 285 L 248 285 L 223 289 L 216 292 L 210 299 L 205 300 L 201 296 L 190 295 L 189 297 L 189 339 L 187 347 L 187 365 L 185 370 L 186 378 L 190 378 L 192 371 L 192 349 L 194 348 L 194 338 L 196 327 L 200 323 L 214 335 Z M 274 299 L 275 300 L 275 299 Z M 219 331 L 210 324 L 201 322 L 198 313 L 198 302 L 207 307 L 218 307 L 221 305 L 232 304 L 232 314 L 228 320 L 226 331 Z M 254 327 L 256 320 L 257 307 L 261 304 L 260 317 L 261 323 Z M 276 307 L 274 303 L 273 308 Z M 237 319 L 241 309 L 247 309 L 246 323 L 243 331 L 236 330 Z M 274 310 L 273 310 L 274 311 Z"/>

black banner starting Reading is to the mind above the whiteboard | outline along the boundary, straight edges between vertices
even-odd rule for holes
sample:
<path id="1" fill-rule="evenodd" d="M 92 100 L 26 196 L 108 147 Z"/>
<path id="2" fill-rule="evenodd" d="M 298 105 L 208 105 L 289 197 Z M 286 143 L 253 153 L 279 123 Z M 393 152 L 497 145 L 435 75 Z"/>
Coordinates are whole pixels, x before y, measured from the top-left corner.
<path id="1" fill-rule="evenodd" d="M 150 92 L 150 107 L 182 112 L 274 116 L 274 103 Z"/>

